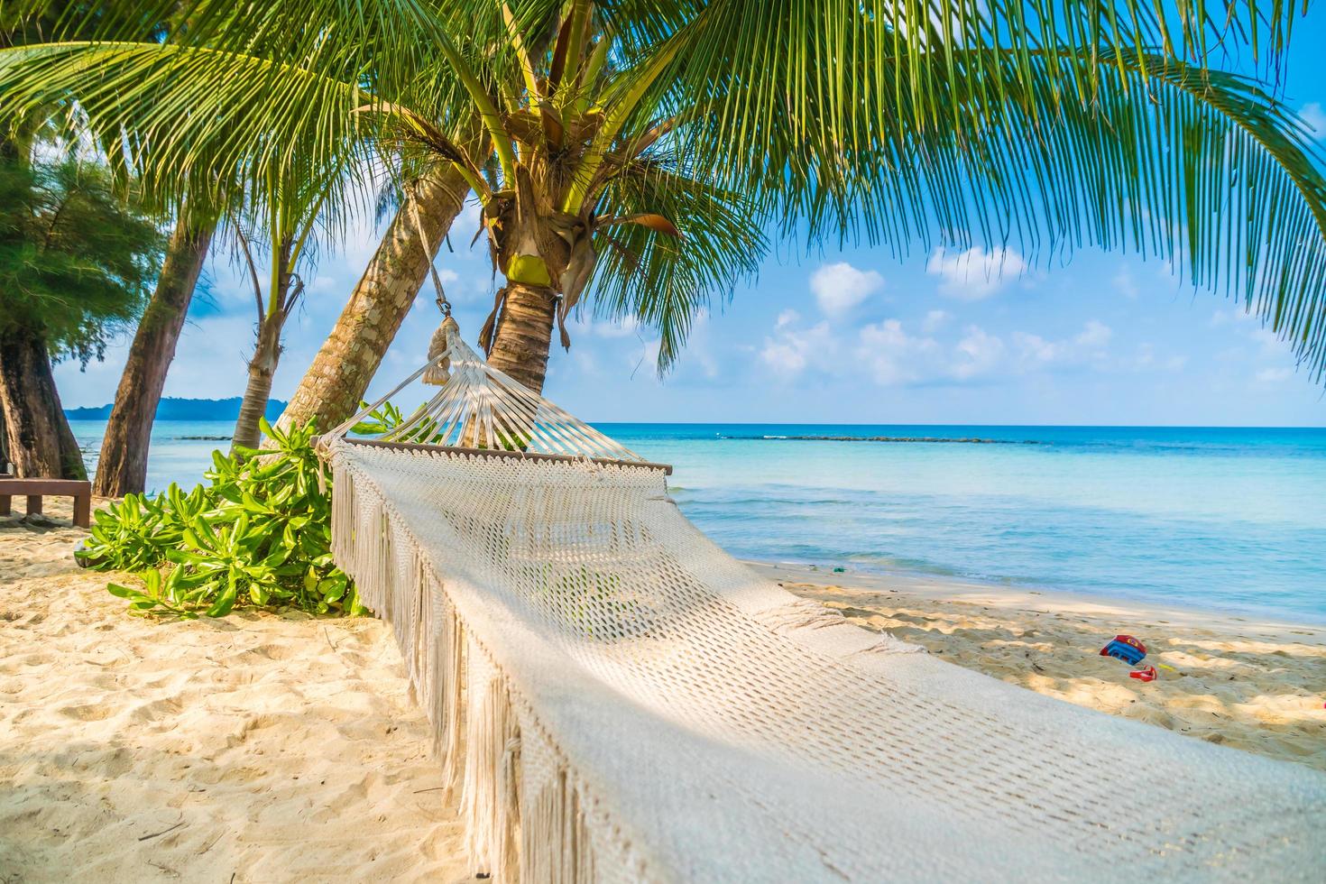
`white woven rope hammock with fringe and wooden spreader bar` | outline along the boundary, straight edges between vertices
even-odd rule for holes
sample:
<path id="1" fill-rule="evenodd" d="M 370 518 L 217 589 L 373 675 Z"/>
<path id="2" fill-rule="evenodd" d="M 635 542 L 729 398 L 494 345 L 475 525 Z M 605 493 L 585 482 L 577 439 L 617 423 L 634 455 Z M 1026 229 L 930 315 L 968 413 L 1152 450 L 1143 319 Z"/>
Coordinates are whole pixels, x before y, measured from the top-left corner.
<path id="1" fill-rule="evenodd" d="M 664 467 L 488 367 L 453 323 L 442 343 L 406 382 L 442 383 L 406 424 L 357 440 L 366 410 L 320 444 L 335 561 L 395 631 L 476 869 L 1326 873 L 1322 774 L 1044 697 L 798 600 L 700 534 Z"/>

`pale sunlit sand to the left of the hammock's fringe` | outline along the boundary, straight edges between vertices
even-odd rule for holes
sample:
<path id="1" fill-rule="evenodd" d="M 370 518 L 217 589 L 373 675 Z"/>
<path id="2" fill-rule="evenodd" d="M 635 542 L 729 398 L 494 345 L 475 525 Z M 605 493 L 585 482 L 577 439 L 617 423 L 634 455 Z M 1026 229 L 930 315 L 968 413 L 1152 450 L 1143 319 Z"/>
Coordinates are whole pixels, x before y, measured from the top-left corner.
<path id="1" fill-rule="evenodd" d="M 385 624 L 129 616 L 82 531 L 13 525 L 0 881 L 469 880 Z"/>

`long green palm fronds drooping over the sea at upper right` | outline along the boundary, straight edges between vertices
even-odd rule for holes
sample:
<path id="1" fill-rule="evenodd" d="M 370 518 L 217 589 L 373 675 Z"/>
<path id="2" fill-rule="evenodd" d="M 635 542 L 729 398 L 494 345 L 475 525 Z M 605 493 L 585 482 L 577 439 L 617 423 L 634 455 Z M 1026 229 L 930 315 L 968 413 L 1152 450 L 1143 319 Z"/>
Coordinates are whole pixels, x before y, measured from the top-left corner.
<path id="1" fill-rule="evenodd" d="M 1217 46 L 1273 56 L 1297 11 L 1229 12 L 812 0 L 756 15 L 717 0 L 678 32 L 687 50 L 626 130 L 703 109 L 667 148 L 812 243 L 1171 260 L 1237 293 L 1321 375 L 1322 158 L 1270 86 L 1208 64 Z"/>

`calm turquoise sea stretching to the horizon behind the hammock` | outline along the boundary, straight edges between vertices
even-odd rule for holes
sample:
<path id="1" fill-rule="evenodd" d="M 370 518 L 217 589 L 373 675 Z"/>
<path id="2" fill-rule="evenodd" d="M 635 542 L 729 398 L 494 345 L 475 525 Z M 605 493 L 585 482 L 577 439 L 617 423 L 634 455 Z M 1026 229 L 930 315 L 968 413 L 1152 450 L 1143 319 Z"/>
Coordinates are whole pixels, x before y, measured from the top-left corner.
<path id="1" fill-rule="evenodd" d="M 89 469 L 105 421 L 72 421 Z M 229 421 L 158 421 L 191 488 Z M 736 557 L 1326 623 L 1326 429 L 597 424 Z"/>

